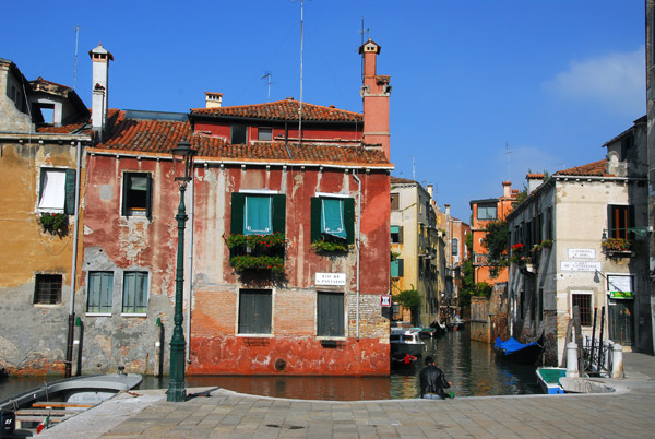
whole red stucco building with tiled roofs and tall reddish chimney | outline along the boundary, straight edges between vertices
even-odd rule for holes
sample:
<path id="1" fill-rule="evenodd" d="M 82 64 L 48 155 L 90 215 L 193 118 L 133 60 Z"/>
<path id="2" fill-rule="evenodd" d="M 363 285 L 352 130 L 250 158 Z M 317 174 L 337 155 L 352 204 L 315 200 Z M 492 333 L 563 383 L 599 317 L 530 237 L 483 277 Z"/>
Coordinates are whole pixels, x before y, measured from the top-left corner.
<path id="1" fill-rule="evenodd" d="M 108 112 L 86 163 L 83 370 L 168 368 L 179 203 L 169 151 L 186 139 L 198 150 L 187 372 L 389 373 L 391 86 L 379 52 L 360 48 L 364 114 L 290 98 Z"/>

